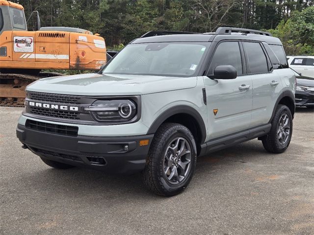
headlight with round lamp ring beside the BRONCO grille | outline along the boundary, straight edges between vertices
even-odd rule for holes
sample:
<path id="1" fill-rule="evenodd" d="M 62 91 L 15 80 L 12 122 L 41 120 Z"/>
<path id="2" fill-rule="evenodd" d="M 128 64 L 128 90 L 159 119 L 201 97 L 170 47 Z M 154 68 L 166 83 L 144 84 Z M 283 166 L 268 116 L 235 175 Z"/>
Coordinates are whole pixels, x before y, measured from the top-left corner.
<path id="1" fill-rule="evenodd" d="M 91 106 L 84 108 L 92 117 L 102 122 L 128 122 L 137 112 L 135 102 L 126 99 L 96 100 Z"/>

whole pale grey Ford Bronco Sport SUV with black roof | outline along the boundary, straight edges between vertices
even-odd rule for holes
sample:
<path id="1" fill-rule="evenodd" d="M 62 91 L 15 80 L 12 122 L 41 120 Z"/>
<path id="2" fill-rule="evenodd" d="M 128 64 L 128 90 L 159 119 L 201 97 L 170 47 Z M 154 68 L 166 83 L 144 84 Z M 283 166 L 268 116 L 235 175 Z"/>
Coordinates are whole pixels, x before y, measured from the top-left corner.
<path id="1" fill-rule="evenodd" d="M 196 158 L 259 138 L 282 153 L 292 135 L 295 75 L 268 32 L 154 31 L 98 73 L 26 88 L 17 137 L 54 168 L 142 171 L 160 195 L 180 193 Z"/>

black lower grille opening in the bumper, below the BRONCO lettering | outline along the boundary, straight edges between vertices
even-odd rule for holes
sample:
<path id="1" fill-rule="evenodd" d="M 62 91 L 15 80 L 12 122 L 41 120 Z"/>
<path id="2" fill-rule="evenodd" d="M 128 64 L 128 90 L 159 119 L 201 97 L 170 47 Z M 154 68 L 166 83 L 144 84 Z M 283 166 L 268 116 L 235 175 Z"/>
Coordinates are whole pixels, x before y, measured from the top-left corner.
<path id="1" fill-rule="evenodd" d="M 64 136 L 78 136 L 77 126 L 58 125 L 27 119 L 26 128 Z"/>

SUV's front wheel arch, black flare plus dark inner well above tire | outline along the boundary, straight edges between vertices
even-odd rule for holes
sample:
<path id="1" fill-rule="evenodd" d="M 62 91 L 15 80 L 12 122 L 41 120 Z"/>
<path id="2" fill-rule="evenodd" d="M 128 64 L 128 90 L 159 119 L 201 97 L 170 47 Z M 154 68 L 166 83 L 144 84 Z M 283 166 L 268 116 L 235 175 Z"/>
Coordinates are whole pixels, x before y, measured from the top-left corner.
<path id="1" fill-rule="evenodd" d="M 186 126 L 195 138 L 197 151 L 200 151 L 200 146 L 205 142 L 207 133 L 205 122 L 199 112 L 186 105 L 169 108 L 158 116 L 147 134 L 154 134 L 164 122 L 174 122 Z"/>

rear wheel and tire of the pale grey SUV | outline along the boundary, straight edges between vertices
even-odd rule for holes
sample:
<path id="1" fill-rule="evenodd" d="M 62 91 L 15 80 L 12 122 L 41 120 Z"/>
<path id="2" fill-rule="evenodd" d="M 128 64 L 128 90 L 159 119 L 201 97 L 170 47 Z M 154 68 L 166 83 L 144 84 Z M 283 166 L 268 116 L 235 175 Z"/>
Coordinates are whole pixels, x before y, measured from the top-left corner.
<path id="1" fill-rule="evenodd" d="M 289 108 L 279 104 L 271 121 L 270 132 L 262 138 L 266 151 L 270 153 L 285 152 L 291 141 L 292 126 L 292 115 Z"/>

